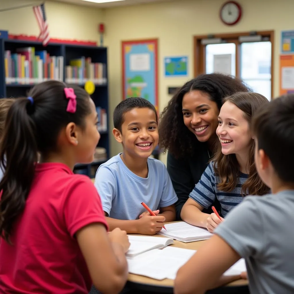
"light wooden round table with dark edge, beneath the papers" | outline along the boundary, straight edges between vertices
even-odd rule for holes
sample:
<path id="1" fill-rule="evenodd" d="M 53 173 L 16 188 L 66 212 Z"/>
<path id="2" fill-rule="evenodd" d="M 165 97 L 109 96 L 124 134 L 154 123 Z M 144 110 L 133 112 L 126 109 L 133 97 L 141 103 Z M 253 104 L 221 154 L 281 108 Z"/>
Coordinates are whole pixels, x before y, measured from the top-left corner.
<path id="1" fill-rule="evenodd" d="M 155 235 L 154 237 L 164 236 Z M 174 244 L 169 246 L 197 250 L 198 248 L 203 246 L 207 241 L 208 240 L 184 243 L 178 240 L 174 240 Z M 129 273 L 127 286 L 132 290 L 138 291 L 143 290 L 157 293 L 173 293 L 173 282 L 174 281 L 170 279 L 156 280 L 149 277 Z M 207 293 L 249 293 L 248 280 L 240 279 L 232 283 L 229 283 L 224 287 L 208 291 Z"/>

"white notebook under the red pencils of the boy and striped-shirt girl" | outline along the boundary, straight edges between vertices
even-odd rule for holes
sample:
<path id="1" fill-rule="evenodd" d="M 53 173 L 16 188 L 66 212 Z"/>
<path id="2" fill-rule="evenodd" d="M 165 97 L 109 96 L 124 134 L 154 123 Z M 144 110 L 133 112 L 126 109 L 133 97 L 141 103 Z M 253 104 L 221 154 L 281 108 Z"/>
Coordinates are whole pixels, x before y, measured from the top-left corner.
<path id="1" fill-rule="evenodd" d="M 173 238 L 185 243 L 206 240 L 213 234 L 204 228 L 195 227 L 185 222 L 168 223 L 166 230 L 162 229 L 158 234 L 168 238 Z"/>

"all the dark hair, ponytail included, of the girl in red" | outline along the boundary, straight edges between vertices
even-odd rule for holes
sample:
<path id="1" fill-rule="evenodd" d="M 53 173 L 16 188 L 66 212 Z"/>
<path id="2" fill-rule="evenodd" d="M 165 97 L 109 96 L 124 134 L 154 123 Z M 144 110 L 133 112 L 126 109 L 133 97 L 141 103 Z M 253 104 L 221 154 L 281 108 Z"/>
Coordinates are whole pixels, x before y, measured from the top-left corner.
<path id="1" fill-rule="evenodd" d="M 66 111 L 69 100 L 64 88 L 76 94 L 76 111 Z M 0 181 L 0 237 L 9 241 L 15 220 L 25 207 L 34 179 L 38 151 L 42 156 L 57 151 L 58 134 L 68 123 L 85 128 L 91 113 L 90 96 L 79 86 L 46 81 L 29 91 L 28 99 L 17 98 L 7 113 L 1 138 L 0 162 L 4 176 Z"/>

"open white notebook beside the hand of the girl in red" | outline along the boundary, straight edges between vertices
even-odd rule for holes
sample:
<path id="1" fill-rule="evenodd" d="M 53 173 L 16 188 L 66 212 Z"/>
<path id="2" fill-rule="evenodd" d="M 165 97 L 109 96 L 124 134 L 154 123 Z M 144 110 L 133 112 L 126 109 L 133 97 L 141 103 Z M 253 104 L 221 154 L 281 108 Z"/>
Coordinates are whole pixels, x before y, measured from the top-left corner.
<path id="1" fill-rule="evenodd" d="M 170 238 L 128 235 L 128 239 L 131 243 L 126 254 L 128 257 L 133 257 L 155 248 L 161 249 L 173 244 L 173 239 Z"/>

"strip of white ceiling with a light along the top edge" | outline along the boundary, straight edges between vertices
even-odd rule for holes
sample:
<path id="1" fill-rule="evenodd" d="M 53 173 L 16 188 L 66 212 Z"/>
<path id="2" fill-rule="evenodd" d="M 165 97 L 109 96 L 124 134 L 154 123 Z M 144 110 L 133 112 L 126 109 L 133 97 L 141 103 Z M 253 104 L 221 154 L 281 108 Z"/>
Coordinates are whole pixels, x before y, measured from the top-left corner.
<path id="1" fill-rule="evenodd" d="M 137 5 L 141 3 L 164 2 L 164 1 L 175 1 L 175 0 L 125 0 L 125 1 L 114 1 L 114 2 L 106 2 L 106 3 L 94 3 L 94 2 L 82 1 L 82 0 L 53 0 L 53 1 L 66 2 L 66 3 L 85 5 L 85 6 L 93 6 L 97 8 L 106 8 L 106 7 L 115 7 L 115 6 L 123 6 L 123 5 Z"/>

